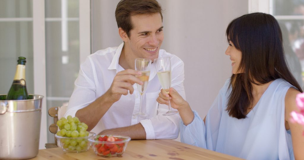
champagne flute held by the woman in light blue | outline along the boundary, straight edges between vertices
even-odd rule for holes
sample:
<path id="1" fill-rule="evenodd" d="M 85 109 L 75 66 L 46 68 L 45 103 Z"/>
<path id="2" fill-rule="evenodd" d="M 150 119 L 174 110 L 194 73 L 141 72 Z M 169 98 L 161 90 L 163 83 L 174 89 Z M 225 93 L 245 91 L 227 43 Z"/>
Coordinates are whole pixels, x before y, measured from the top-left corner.
<path id="1" fill-rule="evenodd" d="M 157 77 L 161 82 L 161 87 L 163 87 L 164 91 L 169 94 L 169 89 L 171 87 L 171 62 L 170 57 L 162 57 L 154 59 Z M 169 111 L 164 116 L 169 116 L 173 114 L 177 114 L 178 111 L 171 110 L 170 99 L 168 98 Z"/>

